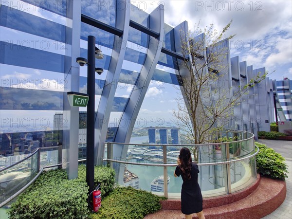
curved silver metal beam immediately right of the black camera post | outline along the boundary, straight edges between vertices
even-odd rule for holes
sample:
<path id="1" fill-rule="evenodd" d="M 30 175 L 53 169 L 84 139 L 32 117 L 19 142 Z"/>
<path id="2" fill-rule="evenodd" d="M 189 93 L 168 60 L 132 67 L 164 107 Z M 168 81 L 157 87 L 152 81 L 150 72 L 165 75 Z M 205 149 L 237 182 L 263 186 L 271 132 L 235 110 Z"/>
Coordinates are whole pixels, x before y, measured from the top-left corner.
<path id="1" fill-rule="evenodd" d="M 121 37 L 114 37 L 109 71 L 106 77 L 106 83 L 101 94 L 100 102 L 97 108 L 97 119 L 95 120 L 95 164 L 102 164 L 104 156 L 105 141 L 108 132 L 108 123 L 110 112 L 113 105 L 113 99 L 120 78 L 120 73 L 125 58 L 125 44 L 128 41 L 129 20 L 130 20 L 130 2 L 126 0 L 117 0 L 116 7 L 125 5 L 125 10 L 116 10 L 116 28 L 123 30 Z"/>

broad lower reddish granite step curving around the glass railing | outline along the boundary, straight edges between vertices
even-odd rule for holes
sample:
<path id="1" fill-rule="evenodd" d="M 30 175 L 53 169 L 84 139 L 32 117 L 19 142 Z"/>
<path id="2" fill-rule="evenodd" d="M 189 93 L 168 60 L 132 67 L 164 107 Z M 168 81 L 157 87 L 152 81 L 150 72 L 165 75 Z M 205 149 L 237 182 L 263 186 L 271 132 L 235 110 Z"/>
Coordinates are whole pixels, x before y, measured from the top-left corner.
<path id="1" fill-rule="evenodd" d="M 286 197 L 285 181 L 261 177 L 257 188 L 247 197 L 229 204 L 205 208 L 206 219 L 260 219 L 273 212 Z M 180 210 L 162 209 L 145 219 L 183 219 Z M 193 219 L 196 219 L 194 215 Z"/>

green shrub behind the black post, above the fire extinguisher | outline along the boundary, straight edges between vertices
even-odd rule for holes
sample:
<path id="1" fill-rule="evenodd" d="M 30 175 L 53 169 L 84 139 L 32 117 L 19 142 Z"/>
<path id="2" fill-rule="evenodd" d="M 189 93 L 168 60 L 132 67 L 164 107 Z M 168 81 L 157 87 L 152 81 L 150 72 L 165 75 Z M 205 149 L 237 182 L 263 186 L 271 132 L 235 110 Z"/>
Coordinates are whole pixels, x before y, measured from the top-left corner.
<path id="1" fill-rule="evenodd" d="M 115 185 L 114 169 L 107 166 L 94 167 L 94 187 L 100 183 L 102 199 L 110 194 Z M 86 165 L 78 166 L 78 179 L 86 181 Z"/>

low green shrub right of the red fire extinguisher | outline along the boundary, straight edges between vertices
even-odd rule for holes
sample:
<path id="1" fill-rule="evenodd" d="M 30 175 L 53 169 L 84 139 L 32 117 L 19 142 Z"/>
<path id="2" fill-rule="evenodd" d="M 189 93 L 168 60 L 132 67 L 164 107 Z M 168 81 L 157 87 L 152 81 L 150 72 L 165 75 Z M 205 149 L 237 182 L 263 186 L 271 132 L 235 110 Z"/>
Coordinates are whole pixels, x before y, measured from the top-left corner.
<path id="1" fill-rule="evenodd" d="M 143 219 L 145 215 L 161 208 L 164 199 L 150 192 L 132 187 L 116 188 L 101 203 L 98 213 L 92 219 Z"/>

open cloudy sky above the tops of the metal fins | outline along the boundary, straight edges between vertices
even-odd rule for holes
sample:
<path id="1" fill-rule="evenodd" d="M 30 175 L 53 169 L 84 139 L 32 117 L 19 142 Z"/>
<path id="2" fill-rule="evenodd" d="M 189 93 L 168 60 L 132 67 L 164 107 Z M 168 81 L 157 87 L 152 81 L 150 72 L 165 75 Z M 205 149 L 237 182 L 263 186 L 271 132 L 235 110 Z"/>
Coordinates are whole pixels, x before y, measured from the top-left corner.
<path id="1" fill-rule="evenodd" d="M 188 21 L 189 30 L 200 22 L 221 31 L 231 20 L 226 37 L 236 35 L 230 43 L 231 57 L 239 55 L 254 69 L 266 67 L 270 79 L 292 79 L 292 1 L 291 0 L 146 0 L 131 1 L 151 13 L 164 5 L 164 22 L 177 26 Z"/>

